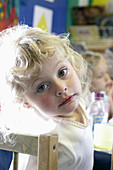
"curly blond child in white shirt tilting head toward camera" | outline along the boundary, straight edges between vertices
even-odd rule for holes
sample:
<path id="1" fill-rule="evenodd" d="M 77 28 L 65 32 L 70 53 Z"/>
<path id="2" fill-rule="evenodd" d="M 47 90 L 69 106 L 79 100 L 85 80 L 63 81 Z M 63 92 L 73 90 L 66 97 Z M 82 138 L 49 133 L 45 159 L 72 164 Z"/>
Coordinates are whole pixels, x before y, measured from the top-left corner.
<path id="1" fill-rule="evenodd" d="M 37 133 L 58 134 L 58 169 L 92 170 L 93 140 L 82 99 L 89 85 L 83 57 L 70 48 L 67 37 L 25 25 L 3 31 L 1 41 L 1 67 L 20 112 L 21 107 L 36 112 Z M 20 169 L 36 170 L 36 160 L 30 156 Z"/>

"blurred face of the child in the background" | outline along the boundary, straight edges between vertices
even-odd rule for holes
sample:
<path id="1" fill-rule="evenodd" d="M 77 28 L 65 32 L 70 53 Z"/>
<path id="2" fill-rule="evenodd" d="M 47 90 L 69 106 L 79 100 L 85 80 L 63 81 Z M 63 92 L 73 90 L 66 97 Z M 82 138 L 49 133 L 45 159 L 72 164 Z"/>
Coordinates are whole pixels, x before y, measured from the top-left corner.
<path id="1" fill-rule="evenodd" d="M 93 70 L 93 81 L 91 91 L 106 91 L 111 86 L 111 79 L 108 73 L 108 67 L 104 60 L 101 60 Z"/>

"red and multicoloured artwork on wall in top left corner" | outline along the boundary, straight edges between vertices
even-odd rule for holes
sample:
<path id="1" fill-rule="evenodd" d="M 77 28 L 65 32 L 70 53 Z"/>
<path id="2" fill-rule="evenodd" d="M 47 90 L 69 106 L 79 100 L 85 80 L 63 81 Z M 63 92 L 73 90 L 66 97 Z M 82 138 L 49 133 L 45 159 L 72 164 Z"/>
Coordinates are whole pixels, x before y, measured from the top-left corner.
<path id="1" fill-rule="evenodd" d="M 18 24 L 19 0 L 0 1 L 0 31 Z"/>

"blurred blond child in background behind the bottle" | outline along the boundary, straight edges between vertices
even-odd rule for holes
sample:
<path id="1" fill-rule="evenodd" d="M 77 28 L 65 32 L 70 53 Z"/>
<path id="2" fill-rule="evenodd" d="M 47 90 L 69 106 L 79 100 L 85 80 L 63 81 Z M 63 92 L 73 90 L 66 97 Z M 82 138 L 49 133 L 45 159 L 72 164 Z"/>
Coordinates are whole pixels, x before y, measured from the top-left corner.
<path id="1" fill-rule="evenodd" d="M 88 62 L 89 71 L 92 72 L 90 91 L 97 93 L 100 91 L 105 91 L 106 95 L 109 97 L 110 119 L 113 116 L 113 81 L 110 78 L 106 60 L 101 53 L 92 51 L 86 51 L 82 53 L 82 56 Z"/>

